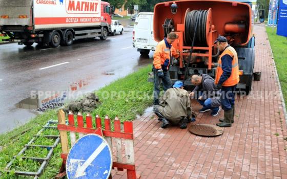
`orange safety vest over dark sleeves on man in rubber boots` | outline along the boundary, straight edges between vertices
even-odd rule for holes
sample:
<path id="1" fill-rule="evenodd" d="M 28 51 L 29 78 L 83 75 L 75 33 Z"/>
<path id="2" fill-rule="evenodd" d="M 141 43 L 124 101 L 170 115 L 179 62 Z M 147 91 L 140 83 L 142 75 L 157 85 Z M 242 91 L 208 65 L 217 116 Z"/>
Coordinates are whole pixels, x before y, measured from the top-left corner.
<path id="1" fill-rule="evenodd" d="M 238 57 L 235 49 L 231 46 L 226 48 L 219 57 L 218 66 L 216 70 L 215 76 L 215 84 L 218 84 L 220 76 L 223 73 L 222 64 L 221 64 L 221 57 L 224 55 L 230 55 L 232 57 L 232 70 L 230 77 L 222 83 L 222 86 L 234 86 L 239 82 L 239 66 L 238 66 Z"/>

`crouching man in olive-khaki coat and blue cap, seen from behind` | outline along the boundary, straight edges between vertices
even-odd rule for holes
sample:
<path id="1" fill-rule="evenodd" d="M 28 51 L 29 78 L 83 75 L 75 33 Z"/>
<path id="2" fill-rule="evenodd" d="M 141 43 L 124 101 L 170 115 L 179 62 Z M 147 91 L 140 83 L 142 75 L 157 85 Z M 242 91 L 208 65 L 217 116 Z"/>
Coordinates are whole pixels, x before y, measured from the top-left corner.
<path id="1" fill-rule="evenodd" d="M 159 105 L 155 105 L 154 112 L 158 120 L 162 121 L 161 128 L 168 125 L 180 124 L 180 128 L 187 128 L 190 122 L 192 110 L 188 92 L 183 89 L 183 83 L 176 81 L 172 88 L 169 88 L 160 100 Z"/>

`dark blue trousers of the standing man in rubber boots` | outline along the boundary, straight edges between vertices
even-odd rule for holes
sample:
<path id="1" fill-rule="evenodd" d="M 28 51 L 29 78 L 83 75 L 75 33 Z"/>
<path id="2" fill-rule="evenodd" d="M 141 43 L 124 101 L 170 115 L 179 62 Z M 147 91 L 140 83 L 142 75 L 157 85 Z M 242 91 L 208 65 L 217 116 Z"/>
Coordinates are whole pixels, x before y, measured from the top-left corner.
<path id="1" fill-rule="evenodd" d="M 232 105 L 234 105 L 234 97 L 235 97 L 235 86 L 222 86 L 221 88 L 221 96 L 220 96 L 220 102 L 221 107 L 223 110 L 230 110 L 232 109 Z"/>

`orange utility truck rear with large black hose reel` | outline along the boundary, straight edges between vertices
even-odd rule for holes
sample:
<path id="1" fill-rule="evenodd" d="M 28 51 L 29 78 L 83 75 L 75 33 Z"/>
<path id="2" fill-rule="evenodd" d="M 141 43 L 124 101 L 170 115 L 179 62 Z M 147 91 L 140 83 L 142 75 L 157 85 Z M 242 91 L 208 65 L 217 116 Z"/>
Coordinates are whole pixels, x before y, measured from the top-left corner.
<path id="1" fill-rule="evenodd" d="M 252 1 L 184 0 L 159 3 L 154 8 L 154 39 L 169 32 L 178 38 L 172 46 L 180 57 L 173 59 L 170 76 L 191 86 L 193 74 L 215 77 L 219 50 L 218 35 L 227 37 L 238 54 L 240 81 L 237 88 L 249 94 L 255 62 Z M 153 81 L 153 77 L 149 78 Z"/>

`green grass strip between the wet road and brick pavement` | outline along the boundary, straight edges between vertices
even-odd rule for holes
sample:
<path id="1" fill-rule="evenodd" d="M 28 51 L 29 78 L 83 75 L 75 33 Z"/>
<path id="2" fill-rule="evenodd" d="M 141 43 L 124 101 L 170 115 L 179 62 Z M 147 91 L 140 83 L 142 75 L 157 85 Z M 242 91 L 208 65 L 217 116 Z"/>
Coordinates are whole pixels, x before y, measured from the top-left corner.
<path id="1" fill-rule="evenodd" d="M 152 104 L 153 100 L 153 84 L 148 82 L 148 72 L 150 71 L 151 65 L 148 65 L 145 68 L 116 80 L 110 85 L 96 91 L 95 93 L 99 96 L 101 105 L 93 111 L 93 119 L 96 114 L 100 115 L 102 120 L 104 120 L 105 115 L 109 115 L 111 119 L 118 116 L 120 121 L 123 122 L 134 120 L 136 115 L 142 115 L 144 110 Z M 6 165 L 13 158 L 13 155 L 16 155 L 23 146 L 33 138 L 33 135 L 35 135 L 50 119 L 57 119 L 57 111 L 48 111 L 47 113 L 32 119 L 29 123 L 5 133 L 4 135 L 0 135 L 0 145 L 3 146 L 3 150 L 0 152 L 0 171 L 4 170 Z M 11 142 L 10 138 L 12 136 L 28 128 L 31 129 L 20 136 L 17 142 Z M 52 129 L 46 129 L 43 135 L 55 135 L 56 133 L 58 132 L 55 132 Z M 54 178 L 58 173 L 61 165 L 60 152 L 61 146 L 59 144 L 55 148 L 52 158 L 40 178 Z M 31 168 L 27 168 L 27 170 L 30 169 L 33 170 L 34 165 L 31 165 Z M 22 179 L 27 177 L 4 174 L 0 176 L 0 178 Z"/>

